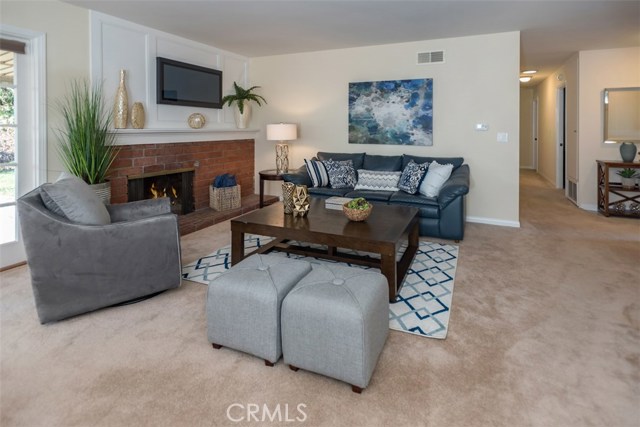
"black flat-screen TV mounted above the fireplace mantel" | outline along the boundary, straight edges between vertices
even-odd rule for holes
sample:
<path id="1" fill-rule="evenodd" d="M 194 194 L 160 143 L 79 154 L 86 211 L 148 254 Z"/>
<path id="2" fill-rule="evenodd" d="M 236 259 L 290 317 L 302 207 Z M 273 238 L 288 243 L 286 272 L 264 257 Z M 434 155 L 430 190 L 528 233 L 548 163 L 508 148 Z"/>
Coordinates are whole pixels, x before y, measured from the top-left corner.
<path id="1" fill-rule="evenodd" d="M 222 71 L 156 58 L 158 104 L 222 108 Z"/>

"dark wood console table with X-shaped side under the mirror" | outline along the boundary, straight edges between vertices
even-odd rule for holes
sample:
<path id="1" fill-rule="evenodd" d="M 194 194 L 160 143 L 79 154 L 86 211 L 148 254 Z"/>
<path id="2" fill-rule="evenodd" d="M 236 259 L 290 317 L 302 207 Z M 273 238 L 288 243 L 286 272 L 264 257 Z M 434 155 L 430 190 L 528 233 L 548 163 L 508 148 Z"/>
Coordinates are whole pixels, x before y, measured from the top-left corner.
<path id="1" fill-rule="evenodd" d="M 637 203 L 640 204 L 640 189 L 622 188 L 621 182 L 611 182 L 609 175 L 610 169 L 638 169 L 640 172 L 640 163 L 625 163 L 622 161 L 596 160 L 598 163 L 598 212 L 604 216 L 627 216 L 640 218 L 640 212 L 626 210 L 618 210 L 615 208 L 618 203 Z M 612 199 L 612 195 L 618 196 Z"/>

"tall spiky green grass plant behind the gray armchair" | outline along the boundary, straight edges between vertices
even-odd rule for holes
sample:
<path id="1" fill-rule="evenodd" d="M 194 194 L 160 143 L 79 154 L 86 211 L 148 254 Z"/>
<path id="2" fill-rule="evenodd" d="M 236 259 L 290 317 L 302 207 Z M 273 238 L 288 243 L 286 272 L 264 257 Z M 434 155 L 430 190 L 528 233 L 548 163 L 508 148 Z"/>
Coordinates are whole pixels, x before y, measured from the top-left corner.
<path id="1" fill-rule="evenodd" d="M 107 172 L 118 153 L 111 131 L 112 111 L 105 107 L 102 86 L 73 81 L 58 102 L 64 127 L 58 129 L 58 153 L 67 170 L 89 184 L 105 204 L 110 203 Z"/>

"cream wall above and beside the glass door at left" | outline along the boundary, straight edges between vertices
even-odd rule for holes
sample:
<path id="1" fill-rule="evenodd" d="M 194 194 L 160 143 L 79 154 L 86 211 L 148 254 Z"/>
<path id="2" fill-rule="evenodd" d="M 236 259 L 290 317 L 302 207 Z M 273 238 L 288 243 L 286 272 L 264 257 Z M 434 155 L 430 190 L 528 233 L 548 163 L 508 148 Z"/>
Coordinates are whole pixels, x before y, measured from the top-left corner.
<path id="1" fill-rule="evenodd" d="M 63 167 L 53 129 L 60 126 L 55 100 L 64 96 L 73 78 L 89 78 L 89 13 L 58 1 L 2 1 L 0 23 L 46 33 L 47 43 L 47 176 L 57 178 Z"/>

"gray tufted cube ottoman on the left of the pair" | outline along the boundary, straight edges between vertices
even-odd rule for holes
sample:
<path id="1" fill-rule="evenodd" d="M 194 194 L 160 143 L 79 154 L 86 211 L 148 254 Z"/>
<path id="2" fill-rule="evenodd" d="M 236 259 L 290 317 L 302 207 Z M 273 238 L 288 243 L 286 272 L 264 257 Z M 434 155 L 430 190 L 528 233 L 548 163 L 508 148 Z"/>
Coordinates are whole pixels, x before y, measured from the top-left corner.
<path id="1" fill-rule="evenodd" d="M 280 307 L 309 271 L 306 261 L 252 255 L 209 284 L 207 329 L 214 348 L 253 354 L 273 366 L 282 355 Z"/>

